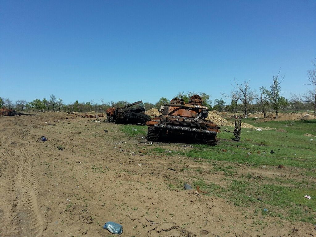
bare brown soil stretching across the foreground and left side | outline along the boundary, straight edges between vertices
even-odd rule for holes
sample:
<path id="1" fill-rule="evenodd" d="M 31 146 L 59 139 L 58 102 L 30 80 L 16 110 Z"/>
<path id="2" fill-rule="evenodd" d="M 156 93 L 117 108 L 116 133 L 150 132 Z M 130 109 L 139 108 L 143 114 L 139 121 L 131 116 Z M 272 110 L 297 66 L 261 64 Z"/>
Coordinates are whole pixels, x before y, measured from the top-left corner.
<path id="1" fill-rule="evenodd" d="M 122 224 L 122 236 L 316 236 L 312 224 L 247 216 L 251 207 L 225 197 L 173 188 L 202 176 L 221 184 L 225 176 L 207 172 L 208 162 L 149 152 L 174 144 L 151 145 L 127 137 L 121 125 L 93 120 L 66 113 L 0 117 L 1 237 L 108 237 L 107 221 Z M 199 172 L 179 172 L 184 166 Z M 264 177 L 296 172 L 236 167 L 237 174 Z"/>

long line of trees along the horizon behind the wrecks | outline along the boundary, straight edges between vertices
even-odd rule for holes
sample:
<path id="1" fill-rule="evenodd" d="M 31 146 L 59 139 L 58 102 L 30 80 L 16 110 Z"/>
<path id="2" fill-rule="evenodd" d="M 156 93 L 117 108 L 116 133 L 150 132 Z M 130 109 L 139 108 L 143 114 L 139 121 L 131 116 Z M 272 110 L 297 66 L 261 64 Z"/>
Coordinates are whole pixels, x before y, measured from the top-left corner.
<path id="1" fill-rule="evenodd" d="M 315 58 L 316 61 L 316 58 Z M 192 95 L 198 94 L 203 99 L 203 106 L 209 107 L 210 110 L 226 111 L 232 113 L 243 112 L 245 118 L 249 112 L 262 111 L 264 117 L 266 112 L 273 110 L 278 117 L 280 110 L 302 110 L 312 109 L 316 112 L 316 64 L 313 64 L 314 68 L 307 71 L 307 81 L 310 82 L 310 88 L 304 94 L 291 94 L 289 99 L 286 99 L 281 95 L 281 83 L 285 79 L 285 75 L 281 76 L 280 71 L 274 75 L 272 74 L 272 81 L 270 87 L 260 87 L 259 92 L 250 87 L 249 81 L 239 82 L 234 79 L 232 83 L 232 90 L 229 94 L 221 92 L 224 98 L 230 99 L 230 104 L 226 104 L 222 98 L 215 99 L 214 105 L 211 96 L 205 92 L 179 92 L 174 97 L 182 98 L 185 102 L 188 102 Z M 169 103 L 170 99 L 161 97 L 155 104 L 150 102 L 144 102 L 140 106 L 144 106 L 146 110 L 156 108 L 159 109 L 162 105 Z M 19 111 L 32 111 L 32 112 L 46 112 L 46 111 L 59 111 L 59 112 L 105 112 L 110 107 L 123 107 L 130 104 L 126 100 L 111 101 L 104 103 L 103 99 L 100 103 L 90 102 L 78 102 L 64 104 L 61 98 L 57 99 L 55 95 L 50 95 L 49 100 L 46 98 L 34 99 L 27 102 L 26 100 L 16 100 L 13 103 L 10 99 L 4 99 L 0 97 L 0 107 L 14 108 Z M 139 106 L 139 105 L 138 105 Z"/>

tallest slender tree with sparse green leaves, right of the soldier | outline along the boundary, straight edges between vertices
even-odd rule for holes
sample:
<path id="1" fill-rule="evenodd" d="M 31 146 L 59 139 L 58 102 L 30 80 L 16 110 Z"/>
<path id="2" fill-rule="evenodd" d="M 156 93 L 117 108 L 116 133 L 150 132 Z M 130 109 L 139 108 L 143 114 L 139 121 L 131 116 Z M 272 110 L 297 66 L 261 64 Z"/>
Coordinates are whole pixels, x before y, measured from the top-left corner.
<path id="1" fill-rule="evenodd" d="M 278 118 L 278 115 L 279 115 L 280 106 L 283 106 L 285 103 L 285 98 L 280 95 L 280 92 L 281 92 L 280 83 L 284 80 L 285 76 L 283 76 L 282 79 L 279 80 L 279 75 L 280 75 L 280 70 L 276 76 L 272 74 L 273 80 L 270 85 L 270 90 L 266 88 L 262 88 L 262 92 L 267 96 L 269 102 L 271 103 L 273 109 L 276 112 L 276 119 Z"/>

